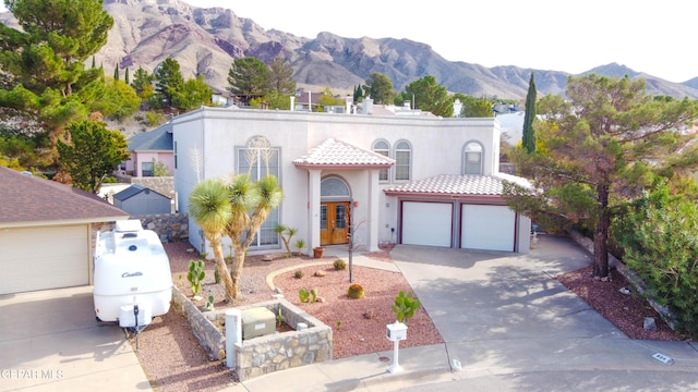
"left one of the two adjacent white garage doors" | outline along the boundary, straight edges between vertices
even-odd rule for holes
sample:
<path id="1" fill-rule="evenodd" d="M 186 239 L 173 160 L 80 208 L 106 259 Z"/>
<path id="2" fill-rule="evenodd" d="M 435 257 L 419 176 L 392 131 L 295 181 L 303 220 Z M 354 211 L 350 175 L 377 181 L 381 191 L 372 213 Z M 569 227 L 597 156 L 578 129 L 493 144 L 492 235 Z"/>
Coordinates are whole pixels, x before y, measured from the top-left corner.
<path id="1" fill-rule="evenodd" d="M 450 247 L 453 204 L 402 203 L 402 244 Z"/>

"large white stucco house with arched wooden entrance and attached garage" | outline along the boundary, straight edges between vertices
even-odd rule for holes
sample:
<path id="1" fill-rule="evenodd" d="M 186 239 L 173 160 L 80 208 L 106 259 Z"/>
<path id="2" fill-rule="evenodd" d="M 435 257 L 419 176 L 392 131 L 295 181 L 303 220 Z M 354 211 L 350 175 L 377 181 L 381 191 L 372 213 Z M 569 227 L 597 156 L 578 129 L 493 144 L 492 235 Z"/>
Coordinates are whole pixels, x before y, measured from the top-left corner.
<path id="1" fill-rule="evenodd" d="M 277 223 L 298 229 L 309 253 L 347 244 L 350 230 L 366 250 L 381 243 L 529 249 L 530 220 L 502 198 L 504 180 L 525 180 L 498 173 L 495 119 L 202 108 L 174 118 L 172 136 L 181 212 L 201 180 L 256 179 L 267 167 L 279 177 L 285 199 L 251 253 L 280 248 Z M 190 242 L 204 250 L 191 217 Z"/>

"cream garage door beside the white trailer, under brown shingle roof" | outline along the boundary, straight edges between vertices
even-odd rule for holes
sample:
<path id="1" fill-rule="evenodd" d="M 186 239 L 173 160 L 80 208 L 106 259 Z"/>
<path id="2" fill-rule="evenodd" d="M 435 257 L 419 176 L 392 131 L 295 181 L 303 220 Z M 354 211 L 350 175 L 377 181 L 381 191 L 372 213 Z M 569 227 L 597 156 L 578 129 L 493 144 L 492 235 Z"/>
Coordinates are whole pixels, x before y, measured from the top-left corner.
<path id="1" fill-rule="evenodd" d="M 89 284 L 86 225 L 0 230 L 0 294 Z"/>

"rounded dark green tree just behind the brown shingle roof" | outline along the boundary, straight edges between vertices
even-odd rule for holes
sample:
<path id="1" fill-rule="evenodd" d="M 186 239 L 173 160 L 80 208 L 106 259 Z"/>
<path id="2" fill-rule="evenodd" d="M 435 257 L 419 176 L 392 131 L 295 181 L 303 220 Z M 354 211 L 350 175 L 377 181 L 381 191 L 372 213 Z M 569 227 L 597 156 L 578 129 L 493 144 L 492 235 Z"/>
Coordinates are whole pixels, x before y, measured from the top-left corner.
<path id="1" fill-rule="evenodd" d="M 71 123 L 67 140 L 58 140 L 60 167 L 73 180 L 73 186 L 94 194 L 107 174 L 129 159 L 129 144 L 119 131 L 107 130 L 104 122 Z"/>

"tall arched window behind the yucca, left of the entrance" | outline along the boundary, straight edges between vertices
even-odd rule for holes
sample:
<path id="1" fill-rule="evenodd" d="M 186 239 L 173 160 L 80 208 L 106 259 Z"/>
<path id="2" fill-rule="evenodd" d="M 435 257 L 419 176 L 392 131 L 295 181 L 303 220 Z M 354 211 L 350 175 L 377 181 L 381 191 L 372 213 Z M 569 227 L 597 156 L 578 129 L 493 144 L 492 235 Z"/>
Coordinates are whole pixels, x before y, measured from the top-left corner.
<path id="1" fill-rule="evenodd" d="M 267 174 L 275 175 L 281 184 L 279 154 L 279 149 L 270 147 L 266 137 L 253 137 L 244 147 L 238 147 L 236 172 L 238 174 L 249 173 L 252 181 L 257 181 Z M 274 230 L 280 222 L 279 219 L 279 208 L 273 209 L 250 246 L 254 248 L 279 245 L 279 235 Z"/>

